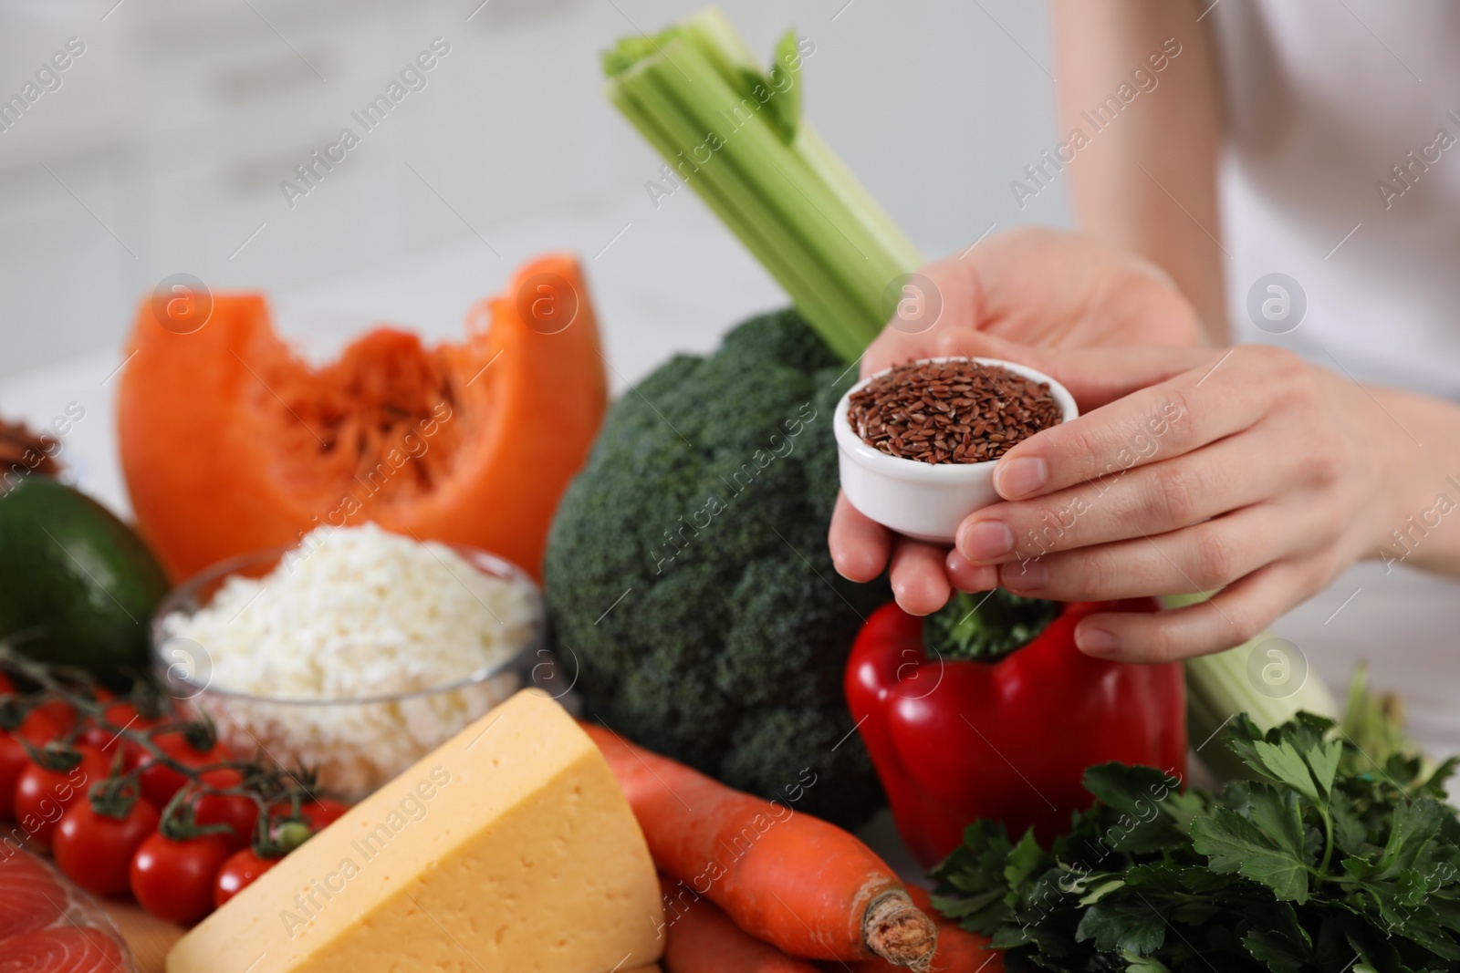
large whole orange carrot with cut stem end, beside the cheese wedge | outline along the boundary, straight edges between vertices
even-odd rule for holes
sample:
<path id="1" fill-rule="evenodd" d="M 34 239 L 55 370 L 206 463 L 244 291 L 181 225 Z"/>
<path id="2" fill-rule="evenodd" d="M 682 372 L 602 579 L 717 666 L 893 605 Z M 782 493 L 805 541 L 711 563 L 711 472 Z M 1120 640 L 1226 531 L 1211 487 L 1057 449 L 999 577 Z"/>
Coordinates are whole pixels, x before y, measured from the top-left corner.
<path id="1" fill-rule="evenodd" d="M 880 955 L 929 967 L 937 928 L 856 837 L 733 791 L 612 729 L 584 729 L 613 767 L 660 869 L 752 937 L 812 960 Z"/>

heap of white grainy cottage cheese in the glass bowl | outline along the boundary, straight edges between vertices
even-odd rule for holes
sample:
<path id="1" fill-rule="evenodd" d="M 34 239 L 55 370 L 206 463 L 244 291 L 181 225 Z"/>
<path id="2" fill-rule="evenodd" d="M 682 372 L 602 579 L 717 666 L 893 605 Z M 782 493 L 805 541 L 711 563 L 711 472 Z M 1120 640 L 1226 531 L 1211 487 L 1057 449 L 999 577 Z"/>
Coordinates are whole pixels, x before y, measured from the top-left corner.
<path id="1" fill-rule="evenodd" d="M 542 624 L 526 581 L 451 547 L 380 530 L 320 528 L 266 578 L 229 578 L 203 610 L 164 619 L 162 656 L 196 659 L 188 700 L 235 753 L 314 769 L 364 796 L 520 683 L 515 672 L 432 690 L 508 662 Z M 177 642 L 175 642 L 177 640 Z M 267 699 L 241 699 L 242 693 Z M 385 702 L 349 702 L 390 696 Z"/>

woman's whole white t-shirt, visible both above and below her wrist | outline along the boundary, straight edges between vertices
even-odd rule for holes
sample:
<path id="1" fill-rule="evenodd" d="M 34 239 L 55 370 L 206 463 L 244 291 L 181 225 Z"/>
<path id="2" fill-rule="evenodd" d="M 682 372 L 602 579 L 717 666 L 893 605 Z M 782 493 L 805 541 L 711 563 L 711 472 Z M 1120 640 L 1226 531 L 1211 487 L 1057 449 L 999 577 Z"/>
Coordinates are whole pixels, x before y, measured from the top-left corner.
<path id="1" fill-rule="evenodd" d="M 1218 0 L 1207 16 L 1237 340 L 1460 401 L 1460 3 Z M 1275 333 L 1298 298 L 1269 290 L 1273 273 L 1307 298 L 1286 334 Z M 1432 754 L 1460 753 L 1454 582 L 1362 563 L 1273 629 L 1340 700 L 1367 659 L 1371 686 L 1405 696 L 1410 732 Z"/>

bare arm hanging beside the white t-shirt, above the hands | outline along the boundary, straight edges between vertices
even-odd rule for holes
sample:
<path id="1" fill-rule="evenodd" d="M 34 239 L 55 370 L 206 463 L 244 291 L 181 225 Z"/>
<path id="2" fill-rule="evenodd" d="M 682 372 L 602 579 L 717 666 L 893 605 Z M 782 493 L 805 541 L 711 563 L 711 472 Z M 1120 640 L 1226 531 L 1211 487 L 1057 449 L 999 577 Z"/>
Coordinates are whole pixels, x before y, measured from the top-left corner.
<path id="1" fill-rule="evenodd" d="M 1199 4 L 1054 0 L 1061 140 L 1085 143 L 1066 169 L 1080 226 L 1162 267 L 1225 343 L 1222 109 Z"/>

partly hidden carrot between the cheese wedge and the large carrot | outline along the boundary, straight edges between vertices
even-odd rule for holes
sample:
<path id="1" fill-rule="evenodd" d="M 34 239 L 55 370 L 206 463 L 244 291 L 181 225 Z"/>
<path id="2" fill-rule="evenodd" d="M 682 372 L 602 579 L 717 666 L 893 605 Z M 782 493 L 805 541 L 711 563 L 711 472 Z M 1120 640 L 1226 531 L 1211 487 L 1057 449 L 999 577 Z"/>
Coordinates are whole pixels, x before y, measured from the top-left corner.
<path id="1" fill-rule="evenodd" d="M 742 931 L 715 903 L 673 878 L 660 875 L 658 887 L 664 893 L 664 973 L 816 973 L 810 963 Z"/>

